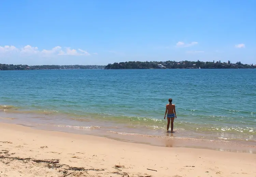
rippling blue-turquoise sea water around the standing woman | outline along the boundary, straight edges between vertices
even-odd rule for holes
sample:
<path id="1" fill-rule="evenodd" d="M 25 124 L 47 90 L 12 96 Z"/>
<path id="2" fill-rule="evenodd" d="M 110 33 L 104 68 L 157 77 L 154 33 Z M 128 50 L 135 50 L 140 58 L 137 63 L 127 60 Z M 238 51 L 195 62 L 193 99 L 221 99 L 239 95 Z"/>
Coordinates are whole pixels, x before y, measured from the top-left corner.
<path id="1" fill-rule="evenodd" d="M 0 83 L 2 121 L 166 136 L 172 98 L 175 136 L 256 143 L 256 69 L 0 71 Z"/>

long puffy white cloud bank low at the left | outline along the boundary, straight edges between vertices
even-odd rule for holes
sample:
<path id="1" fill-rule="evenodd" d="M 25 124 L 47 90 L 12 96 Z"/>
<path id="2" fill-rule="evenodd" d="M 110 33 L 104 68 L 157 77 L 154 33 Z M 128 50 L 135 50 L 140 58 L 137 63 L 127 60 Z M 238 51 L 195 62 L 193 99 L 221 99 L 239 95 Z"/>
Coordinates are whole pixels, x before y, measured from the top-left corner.
<path id="1" fill-rule="evenodd" d="M 90 55 L 87 51 L 82 49 L 71 49 L 70 47 L 60 47 L 56 46 L 51 50 L 39 50 L 38 47 L 32 47 L 30 45 L 26 45 L 25 47 L 17 48 L 15 46 L 0 46 L 0 54 L 9 55 L 12 53 L 20 54 L 20 55 L 42 55 L 43 57 L 53 56 L 53 55 Z"/>

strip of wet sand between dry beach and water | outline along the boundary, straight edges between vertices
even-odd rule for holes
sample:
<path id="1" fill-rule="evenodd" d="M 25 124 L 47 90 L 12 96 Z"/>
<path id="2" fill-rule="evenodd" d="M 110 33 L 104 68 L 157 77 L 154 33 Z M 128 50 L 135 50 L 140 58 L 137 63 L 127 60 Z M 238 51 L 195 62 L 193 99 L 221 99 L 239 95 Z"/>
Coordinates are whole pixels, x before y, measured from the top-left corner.
<path id="1" fill-rule="evenodd" d="M 26 114 L 25 114 L 26 115 Z M 25 116 L 24 115 L 24 116 Z M 162 135 L 151 135 L 151 134 L 140 134 L 132 132 L 122 132 L 122 129 L 108 130 L 104 127 L 96 127 L 91 125 L 89 127 L 81 128 L 77 126 L 68 125 L 55 125 L 48 124 L 37 124 L 31 122 L 32 119 L 18 119 L 10 117 L 0 117 L 0 124 L 7 123 L 12 125 L 20 125 L 29 127 L 34 130 L 45 130 L 52 132 L 65 132 L 80 135 L 93 135 L 98 137 L 104 137 L 112 140 L 118 140 L 120 142 L 130 142 L 136 144 L 147 144 L 152 146 L 160 147 L 185 147 L 185 148 L 196 148 L 196 149 L 210 149 L 217 151 L 229 151 L 229 152 L 243 152 L 249 154 L 256 154 L 255 142 L 241 142 L 241 141 L 229 141 L 229 140 L 211 140 L 207 138 L 189 138 L 182 136 L 179 132 L 175 133 L 164 133 Z M 207 137 L 207 135 L 205 134 Z"/>

